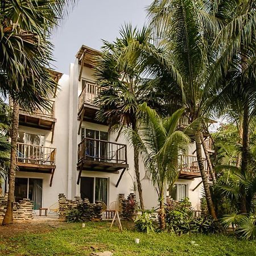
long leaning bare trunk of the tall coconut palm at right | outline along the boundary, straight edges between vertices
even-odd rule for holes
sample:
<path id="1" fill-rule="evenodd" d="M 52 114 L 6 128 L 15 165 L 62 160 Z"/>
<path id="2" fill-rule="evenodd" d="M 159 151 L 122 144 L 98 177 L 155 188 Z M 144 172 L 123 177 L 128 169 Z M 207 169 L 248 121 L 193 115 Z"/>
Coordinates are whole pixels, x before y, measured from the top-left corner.
<path id="1" fill-rule="evenodd" d="M 205 192 L 205 197 L 206 197 L 206 200 L 207 200 L 208 210 L 209 210 L 210 215 L 214 219 L 217 219 L 215 209 L 214 209 L 214 205 L 213 205 L 213 202 L 212 202 L 212 196 L 210 195 L 210 187 L 209 187 L 209 183 L 208 183 L 208 180 L 207 180 L 207 175 L 206 175 L 205 170 L 204 170 L 204 161 L 203 161 L 202 150 L 201 150 L 200 131 L 197 131 L 195 133 L 195 140 L 196 140 L 197 162 L 199 164 L 201 177 L 202 177 L 202 180 L 203 180 L 204 192 Z"/>

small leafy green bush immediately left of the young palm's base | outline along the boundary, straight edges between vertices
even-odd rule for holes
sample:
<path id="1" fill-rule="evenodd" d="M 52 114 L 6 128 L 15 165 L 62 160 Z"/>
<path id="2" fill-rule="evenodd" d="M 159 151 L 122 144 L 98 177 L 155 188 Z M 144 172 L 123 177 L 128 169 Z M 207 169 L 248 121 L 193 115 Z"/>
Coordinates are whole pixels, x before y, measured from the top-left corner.
<path id="1" fill-rule="evenodd" d="M 154 209 L 146 210 L 141 215 L 138 215 L 135 222 L 135 228 L 139 232 L 146 232 L 147 234 L 155 231 L 155 216 Z"/>

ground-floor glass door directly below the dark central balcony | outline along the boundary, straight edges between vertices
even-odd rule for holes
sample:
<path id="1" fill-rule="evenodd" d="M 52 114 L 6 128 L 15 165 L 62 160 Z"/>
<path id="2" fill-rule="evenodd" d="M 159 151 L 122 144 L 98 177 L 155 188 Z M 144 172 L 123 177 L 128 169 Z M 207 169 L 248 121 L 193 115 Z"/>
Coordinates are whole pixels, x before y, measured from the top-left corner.
<path id="1" fill-rule="evenodd" d="M 109 178 L 81 177 L 81 199 L 88 198 L 90 203 L 102 201 L 108 204 Z"/>

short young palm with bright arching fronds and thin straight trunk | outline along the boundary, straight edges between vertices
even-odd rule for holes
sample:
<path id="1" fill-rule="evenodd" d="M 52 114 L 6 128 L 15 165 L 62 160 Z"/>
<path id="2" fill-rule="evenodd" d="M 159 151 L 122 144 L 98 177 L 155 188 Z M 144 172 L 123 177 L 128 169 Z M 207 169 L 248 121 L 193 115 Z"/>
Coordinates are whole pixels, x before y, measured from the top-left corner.
<path id="1" fill-rule="evenodd" d="M 167 185 L 174 185 L 179 176 L 178 156 L 186 149 L 190 139 L 178 130 L 184 109 L 177 110 L 171 117 L 161 118 L 146 103 L 141 106 L 144 118 L 138 132 L 133 131 L 133 143 L 142 155 L 144 166 L 156 186 L 159 200 L 159 224 L 164 229 L 164 191 Z"/>

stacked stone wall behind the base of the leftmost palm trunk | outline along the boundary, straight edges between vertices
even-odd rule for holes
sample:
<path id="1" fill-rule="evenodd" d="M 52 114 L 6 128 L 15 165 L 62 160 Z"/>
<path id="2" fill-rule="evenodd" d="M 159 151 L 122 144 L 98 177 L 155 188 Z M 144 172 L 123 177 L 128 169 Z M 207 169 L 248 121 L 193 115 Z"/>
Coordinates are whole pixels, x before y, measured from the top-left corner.
<path id="1" fill-rule="evenodd" d="M 6 208 L 7 208 L 7 197 L 0 196 L 0 223 L 5 216 Z M 32 220 L 32 211 L 33 211 L 33 202 L 30 199 L 20 200 L 19 203 L 14 203 L 13 205 L 13 218 L 14 220 Z"/>

